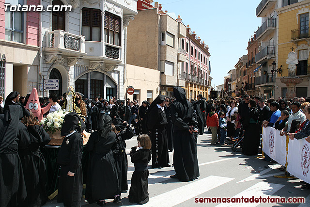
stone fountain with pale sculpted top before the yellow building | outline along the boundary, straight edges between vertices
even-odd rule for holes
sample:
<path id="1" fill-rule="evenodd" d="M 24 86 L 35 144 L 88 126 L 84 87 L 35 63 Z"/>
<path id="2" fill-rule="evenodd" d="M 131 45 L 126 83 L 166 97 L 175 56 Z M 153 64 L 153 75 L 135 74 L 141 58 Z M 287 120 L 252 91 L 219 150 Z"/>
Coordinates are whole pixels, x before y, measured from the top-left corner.
<path id="1" fill-rule="evenodd" d="M 302 78 L 296 77 L 296 64 L 298 64 L 297 54 L 295 52 L 290 52 L 286 59 L 286 64 L 288 64 L 288 77 L 280 78 L 282 83 L 287 86 L 286 98 L 294 98 L 296 96 L 296 84 L 303 81 Z"/>

